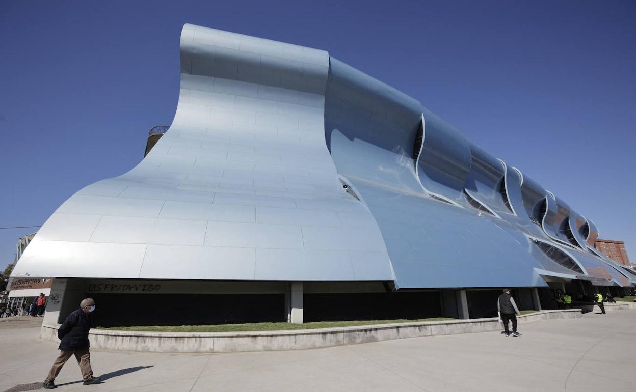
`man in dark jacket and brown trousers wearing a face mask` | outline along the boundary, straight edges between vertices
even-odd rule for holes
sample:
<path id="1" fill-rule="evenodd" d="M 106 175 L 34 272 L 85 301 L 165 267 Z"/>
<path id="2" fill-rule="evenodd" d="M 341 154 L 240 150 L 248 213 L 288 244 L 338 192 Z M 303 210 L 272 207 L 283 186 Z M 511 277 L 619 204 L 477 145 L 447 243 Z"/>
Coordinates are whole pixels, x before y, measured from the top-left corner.
<path id="1" fill-rule="evenodd" d="M 62 366 L 71 356 L 75 356 L 81 370 L 83 384 L 97 384 L 100 377 L 93 377 L 93 370 L 90 368 L 90 352 L 88 351 L 88 331 L 93 327 L 91 312 L 95 310 L 95 301 L 91 298 L 83 299 L 79 303 L 79 309 L 67 316 L 64 323 L 57 330 L 57 337 L 60 338 L 60 356 L 57 357 L 51 370 L 44 381 L 44 389 L 54 389 L 57 385 L 53 383 L 55 377 L 62 370 Z"/>

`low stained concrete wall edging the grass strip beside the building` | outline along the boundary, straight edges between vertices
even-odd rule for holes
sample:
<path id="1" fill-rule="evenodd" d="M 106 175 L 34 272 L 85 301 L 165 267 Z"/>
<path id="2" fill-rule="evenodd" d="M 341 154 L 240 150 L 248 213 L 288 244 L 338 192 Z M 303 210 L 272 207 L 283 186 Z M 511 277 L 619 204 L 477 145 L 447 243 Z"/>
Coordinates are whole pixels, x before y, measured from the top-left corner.
<path id="1" fill-rule="evenodd" d="M 580 309 L 548 310 L 524 314 L 518 323 L 581 317 Z M 44 324 L 40 339 L 59 342 L 59 324 Z M 259 332 L 132 332 L 91 330 L 92 349 L 163 353 L 225 353 L 324 348 L 408 337 L 471 334 L 502 330 L 497 318 L 420 321 L 357 327 Z"/>

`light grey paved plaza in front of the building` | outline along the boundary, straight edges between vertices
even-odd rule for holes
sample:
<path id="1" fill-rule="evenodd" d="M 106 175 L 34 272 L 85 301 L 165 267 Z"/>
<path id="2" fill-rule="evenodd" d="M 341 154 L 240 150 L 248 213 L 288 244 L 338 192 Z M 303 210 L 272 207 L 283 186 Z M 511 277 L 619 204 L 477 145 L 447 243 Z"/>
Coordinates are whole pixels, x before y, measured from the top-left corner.
<path id="1" fill-rule="evenodd" d="M 70 362 L 57 391 L 633 391 L 636 311 L 497 332 L 334 348 L 214 355 L 93 351 L 105 382 L 83 386 Z M 41 381 L 57 355 L 39 328 L 0 330 L 0 391 Z"/>

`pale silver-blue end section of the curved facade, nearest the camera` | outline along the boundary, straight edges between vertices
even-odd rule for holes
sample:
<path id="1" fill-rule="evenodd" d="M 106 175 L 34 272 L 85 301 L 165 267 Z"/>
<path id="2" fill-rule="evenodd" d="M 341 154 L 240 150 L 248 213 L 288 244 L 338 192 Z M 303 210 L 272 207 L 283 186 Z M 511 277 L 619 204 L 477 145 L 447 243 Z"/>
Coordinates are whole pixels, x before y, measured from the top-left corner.
<path id="1" fill-rule="evenodd" d="M 130 172 L 60 206 L 16 273 L 392 280 L 326 147 L 328 67 L 326 51 L 185 25 L 170 129 Z"/>

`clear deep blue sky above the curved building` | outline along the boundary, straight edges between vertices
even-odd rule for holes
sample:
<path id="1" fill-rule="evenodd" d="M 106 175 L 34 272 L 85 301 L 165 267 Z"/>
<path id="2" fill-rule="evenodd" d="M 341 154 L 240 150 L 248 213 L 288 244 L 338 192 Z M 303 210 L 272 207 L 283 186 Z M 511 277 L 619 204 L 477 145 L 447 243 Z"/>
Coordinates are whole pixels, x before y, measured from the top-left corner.
<path id="1" fill-rule="evenodd" d="M 184 23 L 328 50 L 624 240 L 636 263 L 635 1 L 2 1 L 0 227 L 41 225 L 169 125 Z M 18 237 L 0 230 L 0 264 Z"/>

